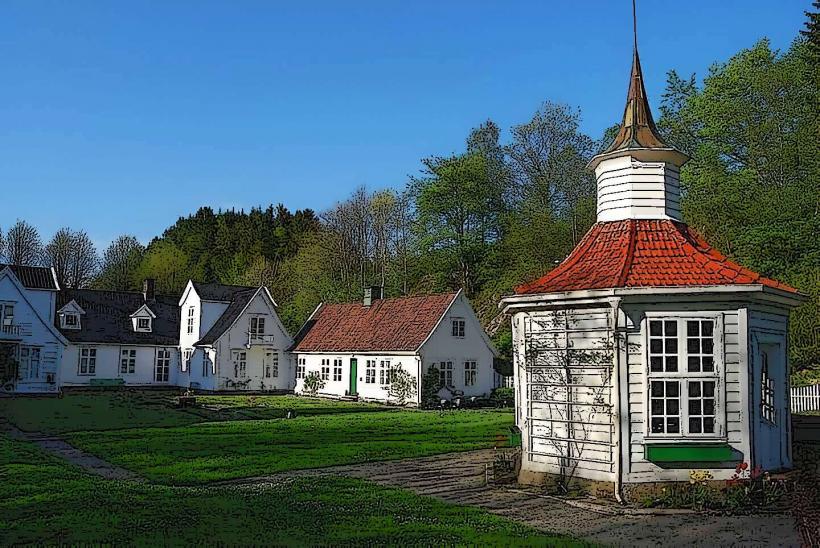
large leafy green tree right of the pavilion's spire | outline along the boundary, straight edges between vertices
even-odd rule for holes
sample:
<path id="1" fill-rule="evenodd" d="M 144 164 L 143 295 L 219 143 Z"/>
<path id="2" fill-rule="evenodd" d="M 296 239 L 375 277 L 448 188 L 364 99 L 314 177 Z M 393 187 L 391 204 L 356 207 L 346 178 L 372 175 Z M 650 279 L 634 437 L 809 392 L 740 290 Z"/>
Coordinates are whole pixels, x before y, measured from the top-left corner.
<path id="1" fill-rule="evenodd" d="M 668 139 L 692 156 L 681 172 L 686 221 L 734 260 L 813 299 L 820 271 L 815 63 L 806 40 L 785 53 L 761 40 L 713 65 L 701 86 L 670 72 L 660 120 Z M 795 370 L 820 362 L 819 323 L 812 302 L 794 312 Z"/>

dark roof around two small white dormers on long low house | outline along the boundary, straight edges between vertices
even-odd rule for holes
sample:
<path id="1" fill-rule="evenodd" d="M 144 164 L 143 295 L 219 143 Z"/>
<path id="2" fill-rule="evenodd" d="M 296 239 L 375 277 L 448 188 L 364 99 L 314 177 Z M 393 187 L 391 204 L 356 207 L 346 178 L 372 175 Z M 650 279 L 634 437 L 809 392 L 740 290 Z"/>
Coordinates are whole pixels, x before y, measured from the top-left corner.
<path id="1" fill-rule="evenodd" d="M 151 346 L 179 344 L 178 297 L 157 295 L 146 303 L 143 294 L 138 292 L 65 289 L 57 296 L 57 308 L 72 300 L 85 310 L 85 315 L 80 321 L 80 329 L 60 330 L 71 342 Z M 149 304 L 156 315 L 152 321 L 152 331 L 135 332 L 131 315 L 145 304 Z M 56 318 L 55 323 L 59 328 Z"/>

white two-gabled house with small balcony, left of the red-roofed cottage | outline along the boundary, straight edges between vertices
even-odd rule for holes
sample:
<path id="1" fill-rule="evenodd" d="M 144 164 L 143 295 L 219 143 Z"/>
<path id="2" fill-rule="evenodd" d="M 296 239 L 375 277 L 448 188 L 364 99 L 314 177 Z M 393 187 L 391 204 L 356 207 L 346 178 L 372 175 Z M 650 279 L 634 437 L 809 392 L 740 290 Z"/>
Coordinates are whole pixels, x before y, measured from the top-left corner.
<path id="1" fill-rule="evenodd" d="M 286 391 L 293 338 L 268 289 L 190 281 L 179 300 L 180 386 Z"/>

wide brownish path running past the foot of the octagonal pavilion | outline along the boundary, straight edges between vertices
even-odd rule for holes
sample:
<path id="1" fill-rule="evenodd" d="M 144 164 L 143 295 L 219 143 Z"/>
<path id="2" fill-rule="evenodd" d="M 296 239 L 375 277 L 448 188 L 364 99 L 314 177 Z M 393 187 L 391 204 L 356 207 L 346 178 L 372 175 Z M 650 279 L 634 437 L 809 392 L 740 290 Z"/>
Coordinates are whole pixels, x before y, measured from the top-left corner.
<path id="1" fill-rule="evenodd" d="M 538 529 L 616 546 L 799 546 L 789 515 L 611 515 L 485 484 L 492 450 L 288 472 L 230 482 L 260 486 L 283 476 L 343 475 L 484 508 Z"/>

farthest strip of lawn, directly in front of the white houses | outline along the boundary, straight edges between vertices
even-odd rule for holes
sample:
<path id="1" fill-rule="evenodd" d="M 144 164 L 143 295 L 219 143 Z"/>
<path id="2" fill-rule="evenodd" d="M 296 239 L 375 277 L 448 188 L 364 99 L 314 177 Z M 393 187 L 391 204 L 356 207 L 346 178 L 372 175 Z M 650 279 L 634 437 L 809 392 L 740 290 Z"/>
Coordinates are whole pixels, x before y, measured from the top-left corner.
<path id="1" fill-rule="evenodd" d="M 202 407 L 176 409 L 179 391 L 110 390 L 69 393 L 62 398 L 0 399 L 0 418 L 27 432 L 63 434 L 124 428 L 184 426 L 203 421 L 274 419 L 287 409 L 300 415 L 380 411 L 357 402 L 296 396 L 198 396 Z"/>

